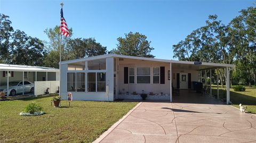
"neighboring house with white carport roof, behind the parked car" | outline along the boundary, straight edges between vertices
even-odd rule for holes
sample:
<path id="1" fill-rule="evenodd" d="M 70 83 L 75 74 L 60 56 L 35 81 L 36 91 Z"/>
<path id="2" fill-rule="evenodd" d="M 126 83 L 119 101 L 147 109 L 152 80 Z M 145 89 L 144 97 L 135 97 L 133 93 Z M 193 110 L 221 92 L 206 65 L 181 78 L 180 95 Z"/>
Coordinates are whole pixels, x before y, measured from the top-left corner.
<path id="1" fill-rule="evenodd" d="M 29 81 L 31 83 L 35 81 L 59 81 L 59 69 L 42 66 L 0 64 L 0 89 L 7 89 L 9 87 L 8 83 L 11 81 Z M 10 91 L 6 94 L 8 96 Z"/>

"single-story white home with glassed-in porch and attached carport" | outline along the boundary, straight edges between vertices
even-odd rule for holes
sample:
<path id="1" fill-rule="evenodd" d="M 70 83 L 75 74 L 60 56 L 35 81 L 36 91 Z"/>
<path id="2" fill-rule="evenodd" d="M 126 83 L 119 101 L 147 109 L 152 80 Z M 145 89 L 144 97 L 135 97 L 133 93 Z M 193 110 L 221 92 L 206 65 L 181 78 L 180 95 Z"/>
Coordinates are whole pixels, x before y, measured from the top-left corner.
<path id="1" fill-rule="evenodd" d="M 229 71 L 233 67 L 232 64 L 162 60 L 115 54 L 100 55 L 61 62 L 60 91 L 64 99 L 67 93 L 71 92 L 74 100 L 136 99 L 139 95 L 133 94 L 143 92 L 153 94 L 148 97 L 149 99 L 168 99 L 172 102 L 172 86 L 174 89 L 192 89 L 193 81 L 202 81 L 202 72 L 218 68 L 227 68 L 229 81 Z M 227 84 L 228 102 L 229 84 Z"/>

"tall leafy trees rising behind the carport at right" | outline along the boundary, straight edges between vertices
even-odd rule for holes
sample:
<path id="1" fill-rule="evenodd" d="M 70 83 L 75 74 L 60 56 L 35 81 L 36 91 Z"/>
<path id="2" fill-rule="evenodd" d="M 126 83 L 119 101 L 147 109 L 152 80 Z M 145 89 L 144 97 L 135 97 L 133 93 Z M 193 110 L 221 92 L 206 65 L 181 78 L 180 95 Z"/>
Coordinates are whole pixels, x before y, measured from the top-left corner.
<path id="1" fill-rule="evenodd" d="M 256 8 L 241 10 L 228 24 L 209 15 L 206 26 L 173 45 L 173 53 L 184 61 L 235 64 L 234 83 L 243 78 L 249 86 L 253 80 L 256 84 Z M 219 73 L 225 78 L 225 71 Z"/>

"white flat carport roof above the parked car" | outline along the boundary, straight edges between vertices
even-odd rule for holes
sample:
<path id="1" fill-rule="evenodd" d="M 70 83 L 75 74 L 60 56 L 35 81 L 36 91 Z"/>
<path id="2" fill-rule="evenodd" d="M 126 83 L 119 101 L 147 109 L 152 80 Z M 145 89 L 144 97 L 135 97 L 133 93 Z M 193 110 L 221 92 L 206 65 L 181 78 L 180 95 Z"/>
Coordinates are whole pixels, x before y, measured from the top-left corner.
<path id="1" fill-rule="evenodd" d="M 59 69 L 42 66 L 0 64 L 0 71 L 31 71 L 31 72 L 59 72 Z"/>

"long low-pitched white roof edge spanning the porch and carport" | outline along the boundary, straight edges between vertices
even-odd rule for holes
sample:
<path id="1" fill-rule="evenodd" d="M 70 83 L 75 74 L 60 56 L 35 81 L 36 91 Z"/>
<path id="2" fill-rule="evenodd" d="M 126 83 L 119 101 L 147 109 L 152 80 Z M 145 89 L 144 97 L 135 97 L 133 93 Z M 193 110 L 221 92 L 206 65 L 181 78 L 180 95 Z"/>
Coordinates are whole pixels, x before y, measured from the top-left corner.
<path id="1" fill-rule="evenodd" d="M 166 63 L 172 63 L 173 68 L 183 68 L 183 69 L 193 69 L 193 70 L 217 69 L 217 68 L 227 68 L 227 67 L 234 68 L 235 66 L 234 64 L 220 64 L 220 63 L 206 63 L 206 62 L 201 62 L 201 64 L 195 64 L 195 62 L 190 62 L 190 61 L 175 61 L 175 60 L 165 60 L 165 59 L 159 59 L 159 58 L 125 56 L 125 55 L 116 55 L 116 54 L 99 55 L 99 56 L 92 56 L 87 58 L 79 58 L 76 60 L 62 61 L 61 64 L 98 60 L 98 59 L 107 58 L 107 57 L 119 57 L 119 58 L 130 58 L 134 60 L 166 62 Z"/>

